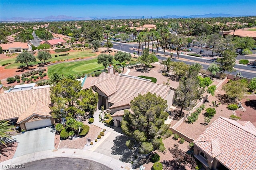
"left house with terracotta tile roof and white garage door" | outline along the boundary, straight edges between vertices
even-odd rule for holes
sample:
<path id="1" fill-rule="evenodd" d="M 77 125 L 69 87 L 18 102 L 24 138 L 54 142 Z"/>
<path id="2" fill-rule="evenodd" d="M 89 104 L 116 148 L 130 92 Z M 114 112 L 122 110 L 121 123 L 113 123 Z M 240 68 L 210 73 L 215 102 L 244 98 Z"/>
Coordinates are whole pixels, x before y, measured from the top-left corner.
<path id="1" fill-rule="evenodd" d="M 54 124 L 50 115 L 50 87 L 0 94 L 0 121 L 10 120 L 24 130 Z"/>

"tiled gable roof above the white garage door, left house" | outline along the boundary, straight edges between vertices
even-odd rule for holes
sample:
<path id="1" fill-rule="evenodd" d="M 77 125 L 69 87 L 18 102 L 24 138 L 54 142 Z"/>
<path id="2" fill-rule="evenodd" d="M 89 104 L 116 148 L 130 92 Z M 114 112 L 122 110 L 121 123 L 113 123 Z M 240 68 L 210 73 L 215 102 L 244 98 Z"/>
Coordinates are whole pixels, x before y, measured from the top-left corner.
<path id="1" fill-rule="evenodd" d="M 42 103 L 41 101 L 36 101 L 33 105 L 31 105 L 18 119 L 17 123 L 20 124 L 22 121 L 28 119 L 32 115 L 41 115 L 41 116 L 48 116 L 50 115 L 51 109 Z"/>

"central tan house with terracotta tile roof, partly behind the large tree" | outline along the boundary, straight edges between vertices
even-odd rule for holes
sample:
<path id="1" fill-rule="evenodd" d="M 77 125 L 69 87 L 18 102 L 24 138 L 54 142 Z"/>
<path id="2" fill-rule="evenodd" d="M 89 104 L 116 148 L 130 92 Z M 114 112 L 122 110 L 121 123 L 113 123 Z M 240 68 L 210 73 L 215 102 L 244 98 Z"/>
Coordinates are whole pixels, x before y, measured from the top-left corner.
<path id="1" fill-rule="evenodd" d="M 138 77 L 126 77 L 126 75 L 104 72 L 100 74 L 91 87 L 99 94 L 98 109 L 103 105 L 108 113 L 114 113 L 112 117 L 116 127 L 120 126 L 124 110 L 130 108 L 130 101 L 139 94 L 156 93 L 157 96 L 167 100 L 168 108 L 166 110 L 172 106 L 175 94 L 175 89 L 171 86 L 144 81 Z"/>

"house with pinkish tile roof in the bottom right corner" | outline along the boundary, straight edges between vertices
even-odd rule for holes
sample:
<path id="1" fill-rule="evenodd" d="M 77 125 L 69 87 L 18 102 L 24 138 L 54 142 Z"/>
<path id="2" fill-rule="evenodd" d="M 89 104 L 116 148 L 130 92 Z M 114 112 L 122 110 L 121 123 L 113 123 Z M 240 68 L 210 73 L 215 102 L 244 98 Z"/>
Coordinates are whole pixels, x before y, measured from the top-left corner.
<path id="1" fill-rule="evenodd" d="M 253 170 L 256 127 L 249 121 L 218 117 L 194 142 L 194 156 L 211 170 Z"/>

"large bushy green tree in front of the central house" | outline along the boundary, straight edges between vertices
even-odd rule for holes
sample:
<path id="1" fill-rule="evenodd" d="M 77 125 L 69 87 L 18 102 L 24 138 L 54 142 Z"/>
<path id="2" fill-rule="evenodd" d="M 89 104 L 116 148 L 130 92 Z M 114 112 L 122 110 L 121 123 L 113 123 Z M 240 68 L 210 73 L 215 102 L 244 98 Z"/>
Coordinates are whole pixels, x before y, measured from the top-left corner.
<path id="1" fill-rule="evenodd" d="M 164 124 L 168 117 L 168 113 L 164 112 L 166 102 L 160 96 L 148 92 L 143 96 L 139 94 L 131 101 L 133 113 L 124 111 L 121 129 L 126 135 L 134 138 L 141 154 L 165 149 L 161 137 L 169 131 L 168 126 Z M 126 143 L 130 144 L 131 141 Z"/>

